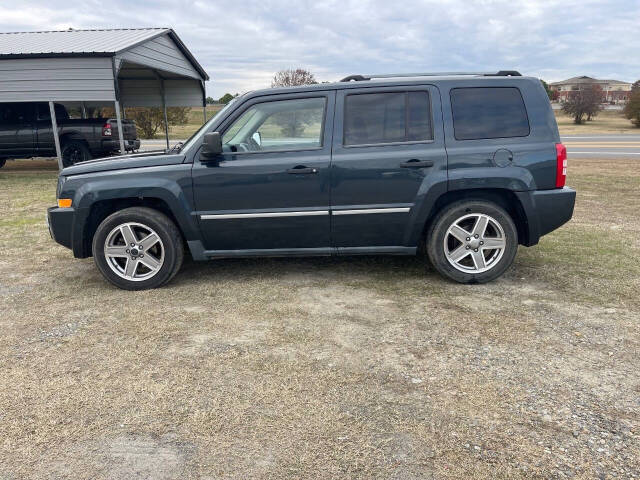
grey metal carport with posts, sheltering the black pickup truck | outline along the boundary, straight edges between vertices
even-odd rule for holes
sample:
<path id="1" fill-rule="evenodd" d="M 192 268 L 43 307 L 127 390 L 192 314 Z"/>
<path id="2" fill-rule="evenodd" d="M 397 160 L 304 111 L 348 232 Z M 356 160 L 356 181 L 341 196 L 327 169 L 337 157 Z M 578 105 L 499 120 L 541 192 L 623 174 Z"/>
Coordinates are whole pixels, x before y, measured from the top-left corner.
<path id="1" fill-rule="evenodd" d="M 60 168 L 54 102 L 113 103 L 124 153 L 121 107 L 163 107 L 166 125 L 167 107 L 206 109 L 207 80 L 170 28 L 0 33 L 0 102 L 49 102 Z"/>

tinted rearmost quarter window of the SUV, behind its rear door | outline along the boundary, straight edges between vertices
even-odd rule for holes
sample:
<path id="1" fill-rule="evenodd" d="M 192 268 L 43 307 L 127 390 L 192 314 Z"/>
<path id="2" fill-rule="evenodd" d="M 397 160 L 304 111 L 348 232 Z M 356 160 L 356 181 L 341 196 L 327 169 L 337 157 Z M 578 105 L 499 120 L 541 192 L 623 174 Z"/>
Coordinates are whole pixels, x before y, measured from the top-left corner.
<path id="1" fill-rule="evenodd" d="M 456 140 L 529 135 L 524 100 L 514 87 L 454 88 L 451 110 Z"/>

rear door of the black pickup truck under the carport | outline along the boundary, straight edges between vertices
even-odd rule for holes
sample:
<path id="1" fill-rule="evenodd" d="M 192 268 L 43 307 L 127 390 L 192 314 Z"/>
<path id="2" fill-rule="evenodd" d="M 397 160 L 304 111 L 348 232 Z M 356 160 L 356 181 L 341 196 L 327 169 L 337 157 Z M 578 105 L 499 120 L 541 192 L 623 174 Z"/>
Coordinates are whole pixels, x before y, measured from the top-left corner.
<path id="1" fill-rule="evenodd" d="M 33 148 L 33 104 L 0 103 L 0 156 L 31 155 Z"/>

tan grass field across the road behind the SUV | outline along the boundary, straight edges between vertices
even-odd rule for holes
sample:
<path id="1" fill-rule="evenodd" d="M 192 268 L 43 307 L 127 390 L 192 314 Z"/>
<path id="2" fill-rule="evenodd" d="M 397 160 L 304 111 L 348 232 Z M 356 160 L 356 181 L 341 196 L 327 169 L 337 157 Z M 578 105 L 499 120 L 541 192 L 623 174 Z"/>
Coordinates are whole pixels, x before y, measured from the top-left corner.
<path id="1" fill-rule="evenodd" d="M 220 106 L 207 107 L 207 116 L 211 118 L 220 110 Z M 560 135 L 580 135 L 580 134 L 622 134 L 635 133 L 640 134 L 640 128 L 635 128 L 633 124 L 627 120 L 621 112 L 605 110 L 598 116 L 583 125 L 575 125 L 573 118 L 564 115 L 562 112 L 555 110 L 556 119 Z M 202 108 L 192 108 L 189 113 L 189 122 L 186 125 L 176 125 L 169 129 L 169 138 L 172 140 L 184 140 L 189 138 L 200 126 L 203 121 Z M 157 138 L 164 138 L 163 134 L 158 134 Z"/>

